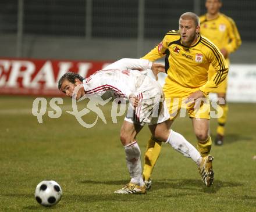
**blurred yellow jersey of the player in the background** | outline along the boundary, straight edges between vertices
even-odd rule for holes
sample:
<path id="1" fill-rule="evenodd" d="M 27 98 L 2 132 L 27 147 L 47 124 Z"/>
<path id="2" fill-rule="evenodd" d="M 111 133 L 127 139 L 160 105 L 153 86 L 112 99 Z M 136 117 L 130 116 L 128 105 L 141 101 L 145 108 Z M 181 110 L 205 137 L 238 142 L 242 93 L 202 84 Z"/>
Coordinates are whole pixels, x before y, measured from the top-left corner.
<path id="1" fill-rule="evenodd" d="M 233 19 L 219 13 L 216 19 L 207 20 L 207 16 L 200 16 L 200 34 L 207 37 L 219 49 L 225 48 L 228 53 L 236 51 L 241 45 L 239 31 Z"/>

